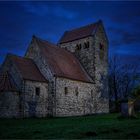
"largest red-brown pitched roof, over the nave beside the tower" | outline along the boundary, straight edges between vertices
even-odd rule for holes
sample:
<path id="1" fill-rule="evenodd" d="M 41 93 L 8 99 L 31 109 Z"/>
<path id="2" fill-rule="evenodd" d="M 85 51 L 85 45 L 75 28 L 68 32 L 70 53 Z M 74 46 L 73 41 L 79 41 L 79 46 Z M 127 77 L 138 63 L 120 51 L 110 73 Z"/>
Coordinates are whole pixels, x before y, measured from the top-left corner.
<path id="1" fill-rule="evenodd" d="M 36 42 L 55 76 L 92 82 L 72 53 L 39 38 Z"/>

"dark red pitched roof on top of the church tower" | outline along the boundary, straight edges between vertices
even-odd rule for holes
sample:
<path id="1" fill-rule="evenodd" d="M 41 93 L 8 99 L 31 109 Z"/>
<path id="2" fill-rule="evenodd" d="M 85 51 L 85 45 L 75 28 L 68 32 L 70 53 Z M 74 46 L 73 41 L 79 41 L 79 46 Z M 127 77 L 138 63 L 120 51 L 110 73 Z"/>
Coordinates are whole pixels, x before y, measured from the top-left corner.
<path id="1" fill-rule="evenodd" d="M 70 31 L 66 31 L 63 36 L 61 37 L 61 39 L 59 40 L 59 43 L 67 43 L 70 41 L 74 41 L 77 39 L 81 39 L 84 37 L 88 37 L 91 36 L 95 33 L 97 25 L 101 22 L 101 20 L 99 20 L 96 23 L 93 24 L 89 24 L 77 29 L 73 29 Z"/>

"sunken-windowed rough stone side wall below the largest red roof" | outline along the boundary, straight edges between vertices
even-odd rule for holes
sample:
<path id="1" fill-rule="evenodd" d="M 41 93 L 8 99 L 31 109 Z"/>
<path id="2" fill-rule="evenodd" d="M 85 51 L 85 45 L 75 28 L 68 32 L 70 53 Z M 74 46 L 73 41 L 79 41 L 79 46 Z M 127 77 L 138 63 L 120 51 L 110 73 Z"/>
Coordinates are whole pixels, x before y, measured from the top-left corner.
<path id="1" fill-rule="evenodd" d="M 97 105 L 95 105 L 94 84 L 57 78 L 55 90 L 55 116 L 79 116 L 95 113 Z"/>

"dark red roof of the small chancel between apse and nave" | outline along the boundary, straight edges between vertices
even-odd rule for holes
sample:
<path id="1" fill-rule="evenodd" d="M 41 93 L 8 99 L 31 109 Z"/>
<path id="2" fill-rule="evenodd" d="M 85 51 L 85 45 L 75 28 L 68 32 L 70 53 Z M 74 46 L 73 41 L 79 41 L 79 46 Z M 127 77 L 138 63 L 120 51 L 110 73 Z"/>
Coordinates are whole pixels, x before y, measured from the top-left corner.
<path id="1" fill-rule="evenodd" d="M 17 66 L 23 79 L 47 82 L 32 59 L 10 55 L 10 59 Z"/>

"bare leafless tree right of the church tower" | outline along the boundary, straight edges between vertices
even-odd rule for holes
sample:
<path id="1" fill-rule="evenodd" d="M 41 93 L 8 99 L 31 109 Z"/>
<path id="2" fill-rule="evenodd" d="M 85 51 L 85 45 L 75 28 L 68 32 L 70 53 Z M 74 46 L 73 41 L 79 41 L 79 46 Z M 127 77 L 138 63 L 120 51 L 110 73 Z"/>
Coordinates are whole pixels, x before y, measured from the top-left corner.
<path id="1" fill-rule="evenodd" d="M 124 64 L 121 58 L 113 56 L 109 64 L 109 91 L 110 99 L 115 101 L 115 110 L 119 110 L 118 101 L 127 99 L 135 86 L 137 66 Z"/>

